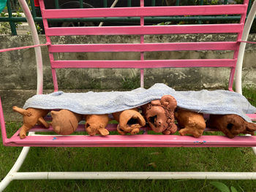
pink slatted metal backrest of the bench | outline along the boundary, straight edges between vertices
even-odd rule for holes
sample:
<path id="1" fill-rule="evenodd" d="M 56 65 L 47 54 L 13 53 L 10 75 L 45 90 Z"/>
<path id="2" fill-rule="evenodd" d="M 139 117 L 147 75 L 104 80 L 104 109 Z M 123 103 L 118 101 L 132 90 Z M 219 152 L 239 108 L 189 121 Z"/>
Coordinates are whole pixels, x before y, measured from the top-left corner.
<path id="1" fill-rule="evenodd" d="M 50 43 L 49 55 L 53 73 L 55 91 L 58 90 L 56 69 L 60 68 L 137 68 L 140 69 L 140 85 L 143 87 L 143 69 L 159 67 L 228 67 L 230 68 L 229 89 L 232 91 L 233 77 L 236 69 L 238 48 L 246 19 L 248 0 L 244 4 L 179 6 L 179 7 L 116 7 L 95 9 L 45 9 L 44 1 L 39 0 L 45 35 Z M 178 16 L 178 15 L 241 15 L 239 23 L 202 24 L 202 25 L 166 25 L 146 26 L 144 17 Z M 50 18 L 107 18 L 140 17 L 140 26 L 93 26 L 93 27 L 51 27 Z M 145 35 L 152 34 L 237 34 L 233 42 L 144 42 Z M 71 35 L 140 35 L 140 43 L 122 44 L 73 44 L 52 45 L 52 36 Z M 145 60 L 145 52 L 175 50 L 231 50 L 233 58 L 213 59 L 168 59 Z M 138 52 L 140 60 L 55 60 L 53 53 L 102 53 L 102 52 Z"/>

